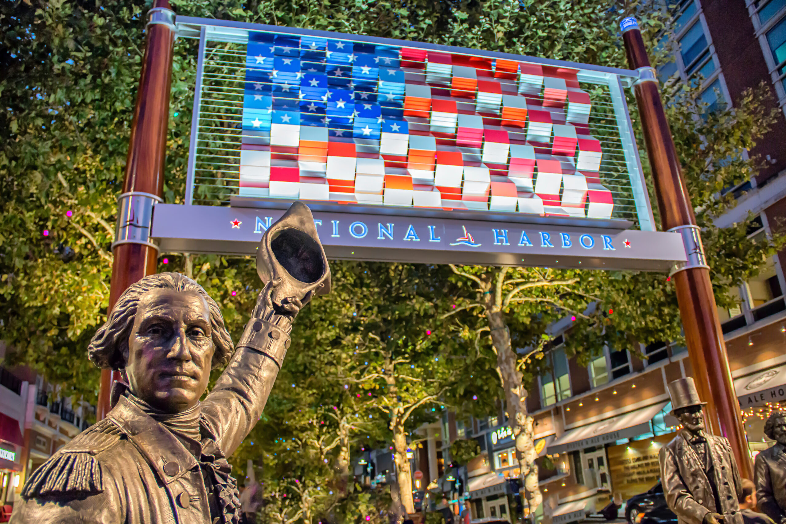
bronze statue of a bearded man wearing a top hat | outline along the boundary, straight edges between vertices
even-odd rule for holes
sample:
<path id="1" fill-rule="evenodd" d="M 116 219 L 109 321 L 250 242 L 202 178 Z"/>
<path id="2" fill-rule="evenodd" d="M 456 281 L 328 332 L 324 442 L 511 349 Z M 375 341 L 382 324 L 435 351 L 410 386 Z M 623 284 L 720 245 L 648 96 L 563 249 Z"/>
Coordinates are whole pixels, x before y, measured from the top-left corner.
<path id="1" fill-rule="evenodd" d="M 729 441 L 704 431 L 693 379 L 669 384 L 672 414 L 683 429 L 660 449 L 663 494 L 679 524 L 743 524 L 740 473 Z"/>

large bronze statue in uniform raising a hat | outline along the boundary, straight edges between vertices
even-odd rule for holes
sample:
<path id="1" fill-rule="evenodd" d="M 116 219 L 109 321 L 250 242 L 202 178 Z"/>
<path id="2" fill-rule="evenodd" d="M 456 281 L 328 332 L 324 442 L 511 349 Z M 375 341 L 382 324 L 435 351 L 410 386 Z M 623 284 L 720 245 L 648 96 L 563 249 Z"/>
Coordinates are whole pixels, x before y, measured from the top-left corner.
<path id="1" fill-rule="evenodd" d="M 150 275 L 120 296 L 88 350 L 98 367 L 123 370 L 127 384 L 113 389 L 104 420 L 28 478 L 11 522 L 238 522 L 226 457 L 262 414 L 292 321 L 330 288 L 303 203 L 263 235 L 258 264 L 265 285 L 234 350 L 218 305 L 188 277 Z M 200 402 L 211 368 L 227 362 Z"/>

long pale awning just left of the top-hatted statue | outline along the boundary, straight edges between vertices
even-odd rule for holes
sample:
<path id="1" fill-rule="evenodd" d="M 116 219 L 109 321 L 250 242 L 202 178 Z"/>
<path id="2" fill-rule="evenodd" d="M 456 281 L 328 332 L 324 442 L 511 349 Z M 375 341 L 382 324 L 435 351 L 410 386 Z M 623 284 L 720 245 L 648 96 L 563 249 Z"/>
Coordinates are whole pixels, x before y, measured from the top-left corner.
<path id="1" fill-rule="evenodd" d="M 649 421 L 667 405 L 667 402 L 647 408 L 623 413 L 611 419 L 600 420 L 586 426 L 576 427 L 557 438 L 549 445 L 549 454 L 575 451 L 593 445 L 604 445 L 621 438 L 635 437 L 650 431 Z"/>

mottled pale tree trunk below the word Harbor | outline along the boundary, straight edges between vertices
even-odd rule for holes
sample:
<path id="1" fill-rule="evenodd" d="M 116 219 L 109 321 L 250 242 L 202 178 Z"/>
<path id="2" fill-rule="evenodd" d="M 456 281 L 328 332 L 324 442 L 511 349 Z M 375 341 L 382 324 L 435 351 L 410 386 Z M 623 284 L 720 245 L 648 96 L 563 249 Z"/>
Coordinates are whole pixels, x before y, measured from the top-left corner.
<path id="1" fill-rule="evenodd" d="M 497 352 L 497 371 L 502 389 L 505 390 L 505 403 L 508 423 L 516 438 L 516 459 L 521 471 L 520 479 L 523 497 L 527 500 L 530 514 L 540 506 L 543 495 L 538 487 L 538 453 L 534 448 L 534 419 L 527 414 L 527 390 L 522 383 L 522 374 L 516 369 L 518 355 L 512 349 L 510 332 L 501 308 L 489 294 L 486 304 L 486 317 L 491 330 L 491 342 Z"/>

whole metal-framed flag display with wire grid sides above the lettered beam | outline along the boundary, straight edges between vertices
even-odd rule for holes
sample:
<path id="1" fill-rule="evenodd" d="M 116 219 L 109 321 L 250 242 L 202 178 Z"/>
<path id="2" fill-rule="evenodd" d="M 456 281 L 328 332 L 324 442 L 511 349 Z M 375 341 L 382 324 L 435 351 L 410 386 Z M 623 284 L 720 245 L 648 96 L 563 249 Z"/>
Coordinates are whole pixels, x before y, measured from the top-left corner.
<path id="1" fill-rule="evenodd" d="M 187 204 L 655 230 L 623 93 L 636 71 L 176 26 L 199 39 Z"/>

